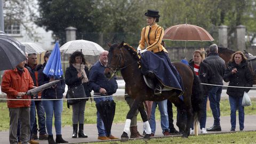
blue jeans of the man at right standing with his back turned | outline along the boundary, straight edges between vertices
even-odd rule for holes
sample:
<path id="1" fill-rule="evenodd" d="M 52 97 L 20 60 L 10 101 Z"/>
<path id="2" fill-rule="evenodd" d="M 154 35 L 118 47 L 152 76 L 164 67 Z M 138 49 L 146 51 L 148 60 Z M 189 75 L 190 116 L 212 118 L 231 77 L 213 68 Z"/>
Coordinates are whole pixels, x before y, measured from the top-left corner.
<path id="1" fill-rule="evenodd" d="M 214 118 L 213 125 L 220 125 L 220 94 L 222 91 L 221 86 L 213 86 L 209 91 L 210 107 Z"/>

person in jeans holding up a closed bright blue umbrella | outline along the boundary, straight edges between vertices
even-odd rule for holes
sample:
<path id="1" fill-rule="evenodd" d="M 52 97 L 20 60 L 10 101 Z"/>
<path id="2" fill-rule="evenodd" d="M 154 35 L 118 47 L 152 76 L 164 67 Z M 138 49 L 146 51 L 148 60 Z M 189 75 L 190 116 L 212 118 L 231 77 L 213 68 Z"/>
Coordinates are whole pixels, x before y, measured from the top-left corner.
<path id="1" fill-rule="evenodd" d="M 41 69 L 38 70 L 38 84 L 43 85 L 54 81 L 55 79 L 61 79 L 60 82 L 51 86 L 49 89 L 45 89 L 42 92 L 42 99 L 44 100 L 43 106 L 46 114 L 46 130 L 49 134 L 49 143 L 68 143 L 62 139 L 61 135 L 61 113 L 63 109 L 63 93 L 65 92 L 65 81 L 63 79 L 63 71 L 61 68 L 60 50 L 58 41 L 55 43 L 53 52 L 47 52 L 44 55 L 44 64 Z M 52 133 L 52 118 L 54 114 L 54 126 L 56 131 L 56 139 L 53 139 Z"/>

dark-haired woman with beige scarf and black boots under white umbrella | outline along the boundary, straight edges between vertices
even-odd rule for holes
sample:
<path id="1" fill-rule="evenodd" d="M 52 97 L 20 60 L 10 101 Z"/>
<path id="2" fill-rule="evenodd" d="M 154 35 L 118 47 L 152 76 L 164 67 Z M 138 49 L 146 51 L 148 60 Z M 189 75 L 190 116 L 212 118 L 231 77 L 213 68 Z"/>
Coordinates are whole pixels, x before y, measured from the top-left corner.
<path id="1" fill-rule="evenodd" d="M 90 97 L 88 78 L 89 70 L 85 66 L 85 59 L 82 52 L 75 51 L 69 58 L 69 67 L 66 69 L 65 82 L 68 88 L 83 84 L 86 97 Z M 77 103 L 72 105 L 73 109 L 73 135 L 72 138 L 77 138 L 77 127 L 79 122 L 79 138 L 87 138 L 84 134 L 84 110 L 85 103 L 88 99 L 81 99 Z M 69 106 L 68 106 L 69 107 Z"/>

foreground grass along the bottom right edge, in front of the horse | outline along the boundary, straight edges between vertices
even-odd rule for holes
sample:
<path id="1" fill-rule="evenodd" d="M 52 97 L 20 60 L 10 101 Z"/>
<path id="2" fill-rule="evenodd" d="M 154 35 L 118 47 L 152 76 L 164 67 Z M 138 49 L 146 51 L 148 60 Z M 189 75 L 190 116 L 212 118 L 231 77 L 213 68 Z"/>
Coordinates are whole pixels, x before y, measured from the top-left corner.
<path id="1" fill-rule="evenodd" d="M 190 144 L 190 143 L 256 143 L 256 132 L 235 132 L 235 133 L 225 133 L 225 134 L 201 134 L 198 137 L 190 136 L 188 139 L 184 139 L 181 137 L 169 137 L 169 138 L 155 138 L 150 139 L 149 141 L 140 140 L 130 140 L 125 143 L 133 143 L 133 144 L 150 144 L 150 143 L 182 143 L 182 144 Z M 100 143 L 111 143 L 118 144 L 124 143 L 121 141 L 109 141 L 109 142 L 93 142 L 95 144 Z"/>

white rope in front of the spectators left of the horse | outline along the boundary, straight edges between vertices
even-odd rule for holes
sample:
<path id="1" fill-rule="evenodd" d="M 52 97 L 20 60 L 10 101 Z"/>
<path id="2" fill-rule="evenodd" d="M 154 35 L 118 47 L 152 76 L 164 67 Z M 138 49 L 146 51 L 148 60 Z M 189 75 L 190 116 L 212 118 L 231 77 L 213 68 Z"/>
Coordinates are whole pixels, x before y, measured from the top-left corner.
<path id="1" fill-rule="evenodd" d="M 0 100 L 34 100 L 34 101 L 39 101 L 39 100 L 78 100 L 78 99 L 91 99 L 91 98 L 108 98 L 108 97 L 121 97 L 124 95 L 128 95 L 128 94 L 117 94 L 117 95 L 104 95 L 104 96 L 99 96 L 98 95 L 92 95 L 95 97 L 90 97 L 90 98 L 62 98 L 62 99 L 6 99 L 6 98 L 0 98 Z"/>

